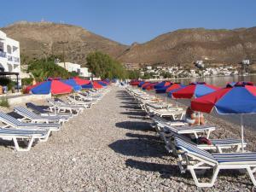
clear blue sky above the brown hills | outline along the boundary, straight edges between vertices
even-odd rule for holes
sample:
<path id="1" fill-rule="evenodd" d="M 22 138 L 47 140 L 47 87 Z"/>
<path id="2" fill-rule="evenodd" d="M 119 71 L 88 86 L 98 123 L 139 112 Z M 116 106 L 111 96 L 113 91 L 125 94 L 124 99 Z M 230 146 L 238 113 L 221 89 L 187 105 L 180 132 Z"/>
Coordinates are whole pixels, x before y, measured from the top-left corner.
<path id="1" fill-rule="evenodd" d="M 62 20 L 122 44 L 181 28 L 256 26 L 256 0 L 6 0 L 1 7 L 0 27 Z"/>

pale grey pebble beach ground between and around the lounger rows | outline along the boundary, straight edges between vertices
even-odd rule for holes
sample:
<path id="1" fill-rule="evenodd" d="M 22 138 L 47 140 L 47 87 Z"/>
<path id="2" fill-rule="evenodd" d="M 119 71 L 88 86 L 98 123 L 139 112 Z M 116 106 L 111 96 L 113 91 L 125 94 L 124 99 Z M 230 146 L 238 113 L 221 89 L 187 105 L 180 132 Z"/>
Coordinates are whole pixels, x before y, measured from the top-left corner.
<path id="1" fill-rule="evenodd" d="M 125 90 L 113 87 L 30 152 L 2 143 L 0 191 L 196 191 L 190 174 L 179 172 L 176 157 L 166 152 L 149 123 Z M 228 122 L 212 118 L 210 123 L 218 125 L 214 137 L 239 137 L 239 128 Z M 254 136 L 246 131 L 247 141 Z M 214 187 L 203 191 L 252 187 L 247 175 L 220 172 Z"/>

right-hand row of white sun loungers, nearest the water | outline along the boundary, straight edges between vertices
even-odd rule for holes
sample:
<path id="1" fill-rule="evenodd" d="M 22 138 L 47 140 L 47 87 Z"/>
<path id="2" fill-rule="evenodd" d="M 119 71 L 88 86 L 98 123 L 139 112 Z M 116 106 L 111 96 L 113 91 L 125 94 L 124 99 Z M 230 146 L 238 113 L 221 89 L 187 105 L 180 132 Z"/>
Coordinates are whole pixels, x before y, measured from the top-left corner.
<path id="1" fill-rule="evenodd" d="M 148 113 L 147 108 L 154 108 L 157 111 L 168 108 L 161 102 L 150 102 L 148 99 L 150 96 L 147 97 L 142 90 L 133 90 L 131 87 L 127 87 L 126 91 L 138 103 L 142 103 L 143 96 L 147 98 L 146 102 L 143 101 L 146 104 L 141 105 L 146 113 Z M 175 112 L 177 111 L 173 111 L 173 113 Z M 228 169 L 247 170 L 253 185 L 256 186 L 253 176 L 253 173 L 256 172 L 256 153 L 241 153 L 240 139 L 210 139 L 211 132 L 216 130 L 215 126 L 189 126 L 184 120 L 177 120 L 172 115 L 169 116 L 171 118 L 168 120 L 164 119 L 159 112 L 148 117 L 153 120 L 152 125 L 164 141 L 167 151 L 177 155 L 180 171 L 182 173 L 189 171 L 197 187 L 212 187 L 219 170 Z M 244 143 L 243 147 L 246 145 L 247 143 Z M 200 182 L 197 174 L 207 170 L 213 171 L 212 178 L 209 182 Z"/>

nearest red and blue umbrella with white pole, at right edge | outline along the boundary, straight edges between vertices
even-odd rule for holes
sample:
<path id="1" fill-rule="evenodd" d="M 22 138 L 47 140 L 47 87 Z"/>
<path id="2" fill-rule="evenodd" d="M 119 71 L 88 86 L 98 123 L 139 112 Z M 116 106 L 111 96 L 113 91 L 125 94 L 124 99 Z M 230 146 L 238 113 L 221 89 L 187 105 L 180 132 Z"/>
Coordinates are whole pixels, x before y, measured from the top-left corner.
<path id="1" fill-rule="evenodd" d="M 220 114 L 241 114 L 241 146 L 243 150 L 243 114 L 256 113 L 256 87 L 251 82 L 227 84 L 206 96 L 191 101 L 195 111 L 211 113 L 215 108 Z"/>

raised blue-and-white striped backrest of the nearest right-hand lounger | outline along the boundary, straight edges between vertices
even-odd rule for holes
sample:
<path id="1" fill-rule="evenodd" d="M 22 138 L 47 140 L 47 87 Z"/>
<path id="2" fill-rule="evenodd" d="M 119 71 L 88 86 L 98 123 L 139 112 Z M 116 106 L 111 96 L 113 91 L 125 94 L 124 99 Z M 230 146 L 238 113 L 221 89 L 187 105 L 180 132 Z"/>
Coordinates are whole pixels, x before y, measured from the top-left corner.
<path id="1" fill-rule="evenodd" d="M 193 154 L 202 160 L 207 160 L 212 163 L 218 163 L 217 160 L 215 160 L 215 158 L 212 156 L 212 154 L 205 150 L 202 150 L 201 148 L 197 148 L 195 145 L 184 141 L 180 137 L 175 137 L 175 144 L 177 148 L 182 148 L 183 151 L 187 152 L 188 154 Z"/>

